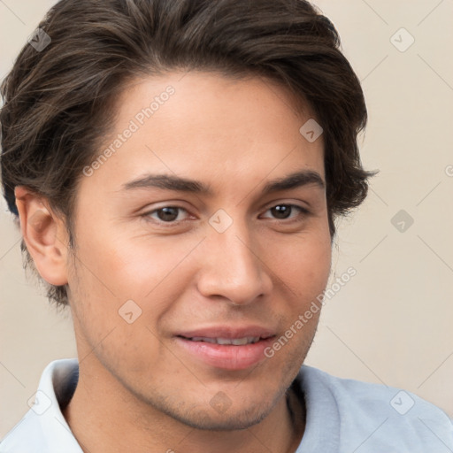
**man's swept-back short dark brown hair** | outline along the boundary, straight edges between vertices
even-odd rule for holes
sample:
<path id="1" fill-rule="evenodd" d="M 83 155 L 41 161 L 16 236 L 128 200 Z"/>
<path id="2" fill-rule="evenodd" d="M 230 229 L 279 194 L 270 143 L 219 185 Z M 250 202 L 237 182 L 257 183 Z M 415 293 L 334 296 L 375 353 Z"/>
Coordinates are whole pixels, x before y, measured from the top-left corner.
<path id="1" fill-rule="evenodd" d="M 324 129 L 326 200 L 334 219 L 365 199 L 357 134 L 365 128 L 360 82 L 329 19 L 303 0 L 61 0 L 39 25 L 42 51 L 27 44 L 1 94 L 2 183 L 27 186 L 72 214 L 82 169 L 112 124 L 119 90 L 137 75 L 175 70 L 258 75 L 289 88 Z M 301 125 L 302 126 L 302 125 Z M 25 243 L 26 264 L 33 266 Z M 66 286 L 48 296 L 66 304 Z"/>

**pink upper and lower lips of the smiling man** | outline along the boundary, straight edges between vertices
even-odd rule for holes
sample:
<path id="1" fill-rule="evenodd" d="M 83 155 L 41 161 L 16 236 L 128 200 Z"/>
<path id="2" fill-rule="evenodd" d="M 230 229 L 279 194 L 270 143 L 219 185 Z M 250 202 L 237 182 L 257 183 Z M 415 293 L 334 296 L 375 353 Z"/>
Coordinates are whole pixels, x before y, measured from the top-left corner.
<path id="1" fill-rule="evenodd" d="M 188 340 L 193 337 L 235 339 L 251 336 L 262 338 L 259 342 L 242 346 Z M 206 327 L 176 334 L 176 342 L 190 356 L 204 365 L 223 370 L 245 370 L 265 360 L 265 349 L 273 343 L 274 338 L 275 331 L 261 326 Z"/>

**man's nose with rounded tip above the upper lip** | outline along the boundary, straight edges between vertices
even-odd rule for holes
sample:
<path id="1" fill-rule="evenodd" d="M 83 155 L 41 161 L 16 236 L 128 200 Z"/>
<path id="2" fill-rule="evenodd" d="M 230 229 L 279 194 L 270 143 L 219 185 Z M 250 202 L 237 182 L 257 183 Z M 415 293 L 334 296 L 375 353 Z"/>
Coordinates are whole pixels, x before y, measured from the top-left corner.
<path id="1" fill-rule="evenodd" d="M 198 290 L 205 297 L 221 297 L 234 305 L 253 303 L 272 290 L 265 259 L 240 222 L 234 221 L 223 233 L 211 229 L 200 250 Z"/>

